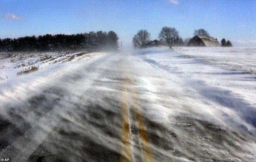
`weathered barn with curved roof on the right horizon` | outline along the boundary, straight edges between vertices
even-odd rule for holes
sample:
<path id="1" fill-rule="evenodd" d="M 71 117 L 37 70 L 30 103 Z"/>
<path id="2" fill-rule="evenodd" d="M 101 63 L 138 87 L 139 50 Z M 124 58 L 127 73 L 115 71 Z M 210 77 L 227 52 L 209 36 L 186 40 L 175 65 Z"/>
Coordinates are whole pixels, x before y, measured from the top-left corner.
<path id="1" fill-rule="evenodd" d="M 213 37 L 194 36 L 187 46 L 221 47 L 220 43 Z"/>

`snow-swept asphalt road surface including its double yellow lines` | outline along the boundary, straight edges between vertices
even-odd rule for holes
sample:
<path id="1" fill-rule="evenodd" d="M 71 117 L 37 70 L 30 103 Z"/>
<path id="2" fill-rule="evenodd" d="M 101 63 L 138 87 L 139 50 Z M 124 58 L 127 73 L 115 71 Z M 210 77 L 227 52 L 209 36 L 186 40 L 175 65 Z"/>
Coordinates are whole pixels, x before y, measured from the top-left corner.
<path id="1" fill-rule="evenodd" d="M 179 82 L 160 68 L 124 53 L 78 65 L 24 90 L 26 98 L 1 105 L 6 113 L 0 115 L 0 157 L 13 162 L 256 159 L 252 133 L 193 111 L 196 104 L 188 100 L 193 94 L 172 90 Z"/>

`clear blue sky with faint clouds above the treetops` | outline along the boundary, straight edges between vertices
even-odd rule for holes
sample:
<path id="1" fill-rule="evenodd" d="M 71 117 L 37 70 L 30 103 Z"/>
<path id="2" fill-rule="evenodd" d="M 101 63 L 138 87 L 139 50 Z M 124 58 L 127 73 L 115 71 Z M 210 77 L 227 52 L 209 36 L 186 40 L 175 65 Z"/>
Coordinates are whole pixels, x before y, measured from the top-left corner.
<path id="1" fill-rule="evenodd" d="M 154 40 L 164 26 L 183 39 L 203 28 L 219 41 L 256 47 L 256 0 L 0 0 L 1 39 L 113 30 L 131 47 L 138 30 Z"/>

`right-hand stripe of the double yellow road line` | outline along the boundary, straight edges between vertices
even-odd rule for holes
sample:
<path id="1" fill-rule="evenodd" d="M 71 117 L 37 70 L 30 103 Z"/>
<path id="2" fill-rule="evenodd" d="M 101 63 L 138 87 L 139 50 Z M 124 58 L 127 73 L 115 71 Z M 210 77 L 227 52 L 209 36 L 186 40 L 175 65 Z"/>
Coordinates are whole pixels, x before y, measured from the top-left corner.
<path id="1" fill-rule="evenodd" d="M 148 136 L 147 136 L 147 133 L 146 133 L 146 127 L 144 125 L 144 122 L 142 120 L 142 116 L 140 115 L 140 106 L 138 104 L 138 100 L 136 98 L 136 94 L 135 94 L 135 91 L 134 91 L 134 87 L 133 87 L 133 84 L 132 84 L 132 80 L 128 79 L 129 80 L 129 83 L 130 83 L 130 90 L 131 90 L 131 94 L 132 94 L 132 100 L 134 101 L 133 102 L 133 113 L 135 115 L 135 118 L 137 120 L 137 123 L 138 123 L 138 132 L 140 134 L 140 139 L 141 139 L 141 143 L 142 143 L 142 154 L 143 154 L 143 157 L 144 157 L 144 161 L 145 162 L 153 162 L 154 159 L 153 159 L 153 155 L 152 155 L 152 151 L 151 151 L 151 148 L 150 148 L 150 143 L 149 143 L 149 140 L 148 140 Z"/>

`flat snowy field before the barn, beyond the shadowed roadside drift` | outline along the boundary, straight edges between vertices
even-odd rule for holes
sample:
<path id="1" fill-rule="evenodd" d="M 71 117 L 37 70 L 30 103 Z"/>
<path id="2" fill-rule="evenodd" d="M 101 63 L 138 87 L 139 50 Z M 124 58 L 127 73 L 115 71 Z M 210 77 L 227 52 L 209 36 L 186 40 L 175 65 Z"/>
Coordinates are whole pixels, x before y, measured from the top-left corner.
<path id="1" fill-rule="evenodd" d="M 255 48 L 198 48 L 183 47 L 174 49 L 184 57 L 202 59 L 222 68 L 256 74 Z"/>

